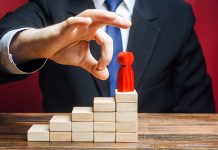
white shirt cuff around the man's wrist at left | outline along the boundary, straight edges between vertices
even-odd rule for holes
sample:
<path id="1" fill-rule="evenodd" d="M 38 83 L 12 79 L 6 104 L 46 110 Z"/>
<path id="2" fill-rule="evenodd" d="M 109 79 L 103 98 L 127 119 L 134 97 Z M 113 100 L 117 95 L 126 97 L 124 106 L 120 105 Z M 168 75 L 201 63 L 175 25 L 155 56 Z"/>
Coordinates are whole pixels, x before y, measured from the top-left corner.
<path id="1" fill-rule="evenodd" d="M 47 62 L 47 59 L 40 59 L 39 63 L 37 63 L 37 60 L 34 60 L 35 63 L 25 63 L 21 65 L 22 67 L 19 67 L 15 64 L 13 60 L 13 56 L 10 53 L 10 44 L 13 38 L 16 36 L 17 33 L 27 30 L 30 28 L 20 28 L 15 29 L 12 31 L 7 32 L 0 40 L 0 65 L 3 67 L 3 70 L 11 73 L 11 74 L 32 74 L 38 70 L 40 70 L 45 63 Z M 24 69 L 24 68 L 31 68 L 31 69 Z"/>

